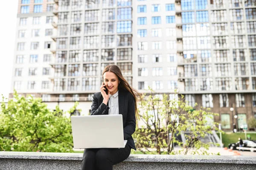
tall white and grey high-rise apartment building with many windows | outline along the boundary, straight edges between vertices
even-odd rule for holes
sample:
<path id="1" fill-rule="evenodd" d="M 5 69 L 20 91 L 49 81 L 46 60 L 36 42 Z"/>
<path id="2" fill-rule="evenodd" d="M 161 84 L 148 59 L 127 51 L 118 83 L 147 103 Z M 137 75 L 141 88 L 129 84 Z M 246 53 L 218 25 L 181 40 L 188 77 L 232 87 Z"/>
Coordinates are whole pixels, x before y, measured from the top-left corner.
<path id="1" fill-rule="evenodd" d="M 151 86 L 172 98 L 177 89 L 190 105 L 212 108 L 224 129 L 256 117 L 255 0 L 35 1 L 19 1 L 15 61 L 24 63 L 14 64 L 12 81 L 19 93 L 64 110 L 79 101 L 87 114 L 102 70 L 114 63 L 140 92 Z M 46 12 L 48 6 L 52 12 Z M 29 21 L 39 16 L 41 25 Z M 31 26 L 20 25 L 23 18 Z M 45 36 L 30 37 L 38 29 Z M 19 37 L 23 30 L 29 32 L 26 39 Z M 49 49 L 36 50 L 37 42 Z M 38 63 L 25 60 L 33 62 L 37 54 Z M 44 55 L 52 60 L 44 63 Z M 42 64 L 50 64 L 49 75 L 43 75 Z M 30 90 L 32 81 L 49 81 L 49 88 Z"/>

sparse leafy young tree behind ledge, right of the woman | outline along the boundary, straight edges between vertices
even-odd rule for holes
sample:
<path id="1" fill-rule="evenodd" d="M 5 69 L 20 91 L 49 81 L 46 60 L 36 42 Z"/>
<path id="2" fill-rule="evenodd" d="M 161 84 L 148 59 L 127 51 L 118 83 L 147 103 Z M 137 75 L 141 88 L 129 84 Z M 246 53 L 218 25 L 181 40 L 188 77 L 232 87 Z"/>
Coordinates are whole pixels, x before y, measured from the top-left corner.
<path id="1" fill-rule="evenodd" d="M 177 154 L 173 151 L 174 143 L 185 147 L 185 154 L 191 147 L 209 148 L 209 144 L 203 144 L 199 138 L 212 133 L 212 126 L 216 123 L 207 124 L 207 118 L 217 114 L 193 109 L 185 102 L 183 95 L 178 97 L 175 94 L 177 98 L 170 99 L 166 94 L 157 95 L 152 89 L 149 90 L 151 92 L 144 94 L 144 100 L 139 104 L 139 121 L 143 125 L 137 127 L 134 133 L 138 150 L 143 153 Z M 186 137 L 185 143 L 177 139 L 181 133 Z M 198 151 L 195 153 L 199 154 Z"/>

